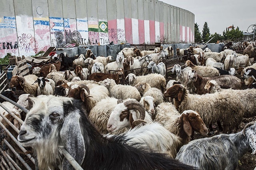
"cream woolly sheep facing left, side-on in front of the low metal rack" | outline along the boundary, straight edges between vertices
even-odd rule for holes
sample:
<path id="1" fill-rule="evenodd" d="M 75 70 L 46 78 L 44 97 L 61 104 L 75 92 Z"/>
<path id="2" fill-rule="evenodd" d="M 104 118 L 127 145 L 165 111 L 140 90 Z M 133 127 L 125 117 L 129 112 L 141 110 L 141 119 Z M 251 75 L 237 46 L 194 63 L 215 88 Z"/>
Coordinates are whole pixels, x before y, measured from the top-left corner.
<path id="1" fill-rule="evenodd" d="M 164 76 L 156 73 L 147 74 L 145 76 L 136 76 L 133 73 L 128 74 L 126 79 L 128 78 L 130 86 L 135 86 L 138 82 L 146 82 L 150 84 L 151 87 L 158 88 L 165 91 L 166 88 L 166 80 Z"/>

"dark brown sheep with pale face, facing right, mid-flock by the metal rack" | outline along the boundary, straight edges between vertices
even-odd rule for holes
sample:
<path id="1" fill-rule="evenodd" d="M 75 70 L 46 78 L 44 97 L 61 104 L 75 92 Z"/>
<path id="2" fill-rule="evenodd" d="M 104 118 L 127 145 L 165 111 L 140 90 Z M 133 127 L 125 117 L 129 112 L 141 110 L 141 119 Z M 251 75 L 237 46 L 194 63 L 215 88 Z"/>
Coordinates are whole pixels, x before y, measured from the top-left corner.
<path id="1" fill-rule="evenodd" d="M 92 73 L 89 76 L 88 80 L 94 80 L 96 82 L 100 82 L 107 78 L 115 80 L 116 84 L 118 84 L 121 78 L 125 78 L 124 70 L 122 68 L 118 68 L 118 71 L 116 72 L 116 74 L 107 74 L 107 73 L 99 73 L 99 72 Z"/>

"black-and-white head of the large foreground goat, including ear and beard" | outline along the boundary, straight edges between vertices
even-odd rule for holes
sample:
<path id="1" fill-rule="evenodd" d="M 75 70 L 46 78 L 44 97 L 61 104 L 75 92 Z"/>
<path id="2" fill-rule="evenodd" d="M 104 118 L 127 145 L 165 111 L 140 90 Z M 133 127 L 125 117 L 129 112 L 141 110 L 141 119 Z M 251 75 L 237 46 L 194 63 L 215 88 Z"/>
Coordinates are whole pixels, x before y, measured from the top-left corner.
<path id="1" fill-rule="evenodd" d="M 65 158 L 62 161 L 58 145 L 65 146 L 78 164 L 82 164 L 85 147 L 80 121 L 88 120 L 80 102 L 52 95 L 31 98 L 31 101 L 33 107 L 20 128 L 18 141 L 37 150 L 39 169 L 54 169 L 61 163 L 67 169 L 72 168 Z"/>

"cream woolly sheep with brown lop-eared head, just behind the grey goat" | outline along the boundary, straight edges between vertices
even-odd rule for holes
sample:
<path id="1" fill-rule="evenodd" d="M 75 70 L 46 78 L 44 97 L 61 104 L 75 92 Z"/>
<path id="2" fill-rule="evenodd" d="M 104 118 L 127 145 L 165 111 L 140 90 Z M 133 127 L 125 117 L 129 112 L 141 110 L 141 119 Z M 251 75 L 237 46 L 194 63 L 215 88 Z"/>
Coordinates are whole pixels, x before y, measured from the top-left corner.
<path id="1" fill-rule="evenodd" d="M 185 110 L 180 114 L 171 103 L 164 102 L 158 105 L 154 117 L 154 122 L 160 123 L 168 131 L 180 137 L 182 145 L 193 139 L 195 131 L 203 136 L 208 134 L 208 129 L 198 112 Z"/>

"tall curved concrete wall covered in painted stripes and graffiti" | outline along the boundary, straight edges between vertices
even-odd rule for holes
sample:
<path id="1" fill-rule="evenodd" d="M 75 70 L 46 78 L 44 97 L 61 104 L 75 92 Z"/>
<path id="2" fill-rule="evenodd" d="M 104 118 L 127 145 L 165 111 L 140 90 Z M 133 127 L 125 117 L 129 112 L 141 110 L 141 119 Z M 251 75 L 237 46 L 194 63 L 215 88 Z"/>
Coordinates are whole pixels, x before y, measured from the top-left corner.
<path id="1" fill-rule="evenodd" d="M 194 14 L 158 0 L 4 0 L 0 57 L 67 43 L 194 42 Z"/>

